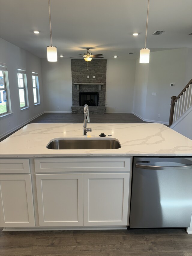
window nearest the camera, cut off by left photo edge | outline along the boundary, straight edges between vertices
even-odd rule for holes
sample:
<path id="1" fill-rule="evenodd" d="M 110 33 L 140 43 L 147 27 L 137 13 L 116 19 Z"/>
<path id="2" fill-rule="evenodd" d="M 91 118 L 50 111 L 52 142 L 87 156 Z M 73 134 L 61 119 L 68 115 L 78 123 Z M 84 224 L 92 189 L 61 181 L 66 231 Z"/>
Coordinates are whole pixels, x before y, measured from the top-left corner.
<path id="1" fill-rule="evenodd" d="M 0 64 L 0 116 L 9 112 L 9 104 L 7 99 L 7 67 Z"/>

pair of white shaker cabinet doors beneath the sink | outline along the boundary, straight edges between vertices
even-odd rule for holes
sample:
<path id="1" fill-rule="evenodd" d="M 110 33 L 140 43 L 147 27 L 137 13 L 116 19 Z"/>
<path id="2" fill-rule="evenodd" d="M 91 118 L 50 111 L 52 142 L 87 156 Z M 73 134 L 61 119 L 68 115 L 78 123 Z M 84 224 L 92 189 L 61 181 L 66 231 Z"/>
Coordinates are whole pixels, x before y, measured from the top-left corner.
<path id="1" fill-rule="evenodd" d="M 40 226 L 126 226 L 129 173 L 36 174 Z"/>

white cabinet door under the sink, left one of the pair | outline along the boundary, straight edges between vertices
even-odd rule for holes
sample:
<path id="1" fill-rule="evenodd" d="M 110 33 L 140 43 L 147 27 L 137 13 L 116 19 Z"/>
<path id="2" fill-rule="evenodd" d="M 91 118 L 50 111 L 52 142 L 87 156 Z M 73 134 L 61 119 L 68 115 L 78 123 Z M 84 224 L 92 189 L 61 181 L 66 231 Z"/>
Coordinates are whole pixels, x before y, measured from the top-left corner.
<path id="1" fill-rule="evenodd" d="M 36 174 L 40 226 L 83 226 L 83 175 Z"/>

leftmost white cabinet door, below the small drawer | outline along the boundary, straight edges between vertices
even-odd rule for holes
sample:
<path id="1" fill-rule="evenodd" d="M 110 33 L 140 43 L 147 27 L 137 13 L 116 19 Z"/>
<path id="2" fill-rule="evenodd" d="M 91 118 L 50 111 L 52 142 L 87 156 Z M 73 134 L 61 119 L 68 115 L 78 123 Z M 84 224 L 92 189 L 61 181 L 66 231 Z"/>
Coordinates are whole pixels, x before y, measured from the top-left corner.
<path id="1" fill-rule="evenodd" d="M 1 227 L 34 227 L 31 174 L 0 175 Z"/>

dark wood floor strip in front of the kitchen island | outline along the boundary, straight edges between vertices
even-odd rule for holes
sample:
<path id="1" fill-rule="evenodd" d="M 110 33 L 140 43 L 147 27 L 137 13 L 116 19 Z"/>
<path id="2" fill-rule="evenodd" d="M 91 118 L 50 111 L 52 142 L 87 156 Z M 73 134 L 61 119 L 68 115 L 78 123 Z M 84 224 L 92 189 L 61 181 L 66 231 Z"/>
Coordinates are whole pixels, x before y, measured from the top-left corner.
<path id="1" fill-rule="evenodd" d="M 0 231 L 0 255 L 191 256 L 184 229 Z"/>

